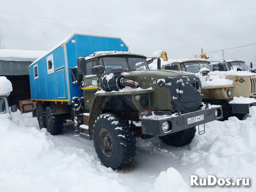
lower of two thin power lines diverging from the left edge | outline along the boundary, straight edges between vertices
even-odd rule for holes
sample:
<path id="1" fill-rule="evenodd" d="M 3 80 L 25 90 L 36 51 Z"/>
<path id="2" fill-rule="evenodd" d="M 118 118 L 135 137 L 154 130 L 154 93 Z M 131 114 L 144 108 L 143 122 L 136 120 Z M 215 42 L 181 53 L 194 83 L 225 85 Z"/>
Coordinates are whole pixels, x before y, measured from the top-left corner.
<path id="1" fill-rule="evenodd" d="M 4 13 L 4 14 L 13 15 L 13 14 L 10 14 L 10 13 Z M 99 33 L 99 34 L 108 35 L 108 36 L 113 36 L 113 35 L 110 35 L 110 34 L 107 34 L 107 33 L 100 33 L 100 32 L 97 32 L 97 31 L 91 31 L 91 30 L 87 30 L 87 29 L 82 29 L 82 28 L 76 28 L 76 27 L 71 27 L 71 26 L 67 26 L 67 25 L 62 25 L 62 24 L 58 24 L 58 23 L 52 23 L 52 22 L 48 22 L 48 21 L 37 20 L 37 19 L 33 19 L 33 18 L 23 17 L 23 16 L 20 16 L 20 15 L 13 15 L 13 16 L 22 17 L 22 18 L 31 19 L 31 20 L 36 20 L 36 21 L 41 21 L 41 22 L 45 22 L 45 23 L 51 23 L 51 24 L 60 25 L 60 26 L 64 26 L 64 27 L 80 29 L 80 30 L 84 30 L 84 31 L 90 31 L 90 32 L 93 32 L 93 33 Z M 144 40 L 133 39 L 133 38 L 128 38 L 128 37 L 124 37 L 124 36 L 120 36 L 120 37 L 125 38 L 125 39 L 132 39 L 132 40 L 136 40 L 136 41 L 147 42 L 147 43 L 170 45 L 170 46 L 176 46 L 176 47 L 185 47 L 185 48 L 191 48 L 191 49 L 201 49 L 201 48 L 195 48 L 195 47 L 186 47 L 186 46 L 180 46 L 180 45 L 171 45 L 171 44 L 157 43 L 157 42 L 151 42 L 151 41 L 144 41 Z M 209 49 L 205 49 L 205 50 L 212 51 L 212 50 L 209 50 Z"/>

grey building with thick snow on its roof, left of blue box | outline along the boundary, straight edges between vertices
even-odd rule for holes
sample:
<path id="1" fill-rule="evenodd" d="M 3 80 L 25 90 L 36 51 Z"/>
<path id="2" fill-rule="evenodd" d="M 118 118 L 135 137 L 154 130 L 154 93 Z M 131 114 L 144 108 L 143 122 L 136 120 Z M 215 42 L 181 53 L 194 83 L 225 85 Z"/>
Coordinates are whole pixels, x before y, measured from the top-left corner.
<path id="1" fill-rule="evenodd" d="M 45 54 L 45 51 L 0 49 L 0 76 L 6 76 L 13 91 L 8 97 L 9 105 L 31 98 L 28 66 Z"/>

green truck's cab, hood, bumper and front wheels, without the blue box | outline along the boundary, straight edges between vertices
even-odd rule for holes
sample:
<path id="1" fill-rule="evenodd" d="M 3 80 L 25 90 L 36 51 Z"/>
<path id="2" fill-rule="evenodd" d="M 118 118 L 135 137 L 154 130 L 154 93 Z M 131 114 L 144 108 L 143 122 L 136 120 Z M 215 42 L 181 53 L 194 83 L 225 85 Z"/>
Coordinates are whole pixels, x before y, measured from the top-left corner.
<path id="1" fill-rule="evenodd" d="M 112 169 L 132 162 L 135 138 L 159 136 L 179 147 L 191 142 L 197 125 L 222 118 L 221 106 L 202 104 L 198 77 L 151 71 L 141 54 L 96 52 L 80 57 L 74 77 L 83 91 L 83 98 L 72 101 L 75 133 L 93 139 L 100 161 Z"/>

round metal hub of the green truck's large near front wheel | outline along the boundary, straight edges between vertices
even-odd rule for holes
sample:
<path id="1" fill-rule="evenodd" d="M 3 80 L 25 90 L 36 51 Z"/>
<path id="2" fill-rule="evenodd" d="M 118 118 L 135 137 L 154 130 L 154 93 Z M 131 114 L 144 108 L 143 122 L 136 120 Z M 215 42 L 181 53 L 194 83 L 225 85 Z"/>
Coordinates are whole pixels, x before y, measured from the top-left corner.
<path id="1" fill-rule="evenodd" d="M 111 133 L 103 128 L 99 132 L 100 148 L 106 156 L 112 156 L 114 153 L 114 140 Z"/>

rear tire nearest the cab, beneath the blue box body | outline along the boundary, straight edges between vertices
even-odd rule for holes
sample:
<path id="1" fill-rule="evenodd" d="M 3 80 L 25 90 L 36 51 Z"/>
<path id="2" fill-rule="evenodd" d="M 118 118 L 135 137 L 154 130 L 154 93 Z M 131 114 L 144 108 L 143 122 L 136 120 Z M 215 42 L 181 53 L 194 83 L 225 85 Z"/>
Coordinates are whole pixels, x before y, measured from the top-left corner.
<path id="1" fill-rule="evenodd" d="M 54 115 L 52 106 L 48 106 L 45 109 L 45 125 L 47 131 L 52 135 L 58 135 L 63 130 L 63 117 Z"/>

